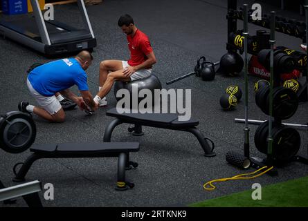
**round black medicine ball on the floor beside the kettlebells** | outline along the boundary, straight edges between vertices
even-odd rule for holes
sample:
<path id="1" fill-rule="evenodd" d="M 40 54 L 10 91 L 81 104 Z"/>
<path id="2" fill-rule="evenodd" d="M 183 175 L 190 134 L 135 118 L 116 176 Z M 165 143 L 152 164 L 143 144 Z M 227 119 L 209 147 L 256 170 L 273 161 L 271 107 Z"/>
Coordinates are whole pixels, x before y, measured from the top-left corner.
<path id="1" fill-rule="evenodd" d="M 220 69 L 225 75 L 235 76 L 244 67 L 242 56 L 235 52 L 228 52 L 220 59 Z"/>

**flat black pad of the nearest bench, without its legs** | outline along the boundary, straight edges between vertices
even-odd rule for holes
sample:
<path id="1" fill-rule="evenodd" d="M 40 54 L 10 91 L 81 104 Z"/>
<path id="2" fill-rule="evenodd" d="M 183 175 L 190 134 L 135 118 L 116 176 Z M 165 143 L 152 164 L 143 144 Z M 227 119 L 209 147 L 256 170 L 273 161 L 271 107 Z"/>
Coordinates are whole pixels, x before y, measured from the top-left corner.
<path id="1" fill-rule="evenodd" d="M 139 151 L 138 142 L 34 144 L 35 153 L 127 153 Z"/>

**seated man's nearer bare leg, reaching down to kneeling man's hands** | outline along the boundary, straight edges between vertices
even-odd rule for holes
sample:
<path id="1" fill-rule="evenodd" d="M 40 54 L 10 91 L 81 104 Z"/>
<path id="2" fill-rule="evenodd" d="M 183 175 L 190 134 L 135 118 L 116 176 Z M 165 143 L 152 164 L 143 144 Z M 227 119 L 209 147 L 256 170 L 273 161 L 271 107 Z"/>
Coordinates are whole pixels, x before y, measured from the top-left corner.
<path id="1" fill-rule="evenodd" d="M 107 75 L 105 84 L 103 84 L 97 96 L 100 98 L 105 97 L 111 90 L 112 86 L 114 85 L 114 81 L 129 81 L 129 80 L 130 80 L 129 77 L 125 77 L 123 75 L 123 69 L 111 72 L 109 73 L 109 75 Z"/>

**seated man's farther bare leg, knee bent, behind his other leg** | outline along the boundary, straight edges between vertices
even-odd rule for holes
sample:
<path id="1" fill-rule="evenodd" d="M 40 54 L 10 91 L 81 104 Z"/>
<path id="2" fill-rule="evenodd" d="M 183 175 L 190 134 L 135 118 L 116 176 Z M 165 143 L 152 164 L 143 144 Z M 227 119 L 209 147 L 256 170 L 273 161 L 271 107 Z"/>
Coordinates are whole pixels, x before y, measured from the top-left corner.
<path id="1" fill-rule="evenodd" d="M 109 71 L 114 72 L 122 69 L 123 69 L 122 61 L 119 60 L 106 60 L 100 62 L 100 79 L 99 79 L 100 87 L 102 87 L 105 84 Z"/>

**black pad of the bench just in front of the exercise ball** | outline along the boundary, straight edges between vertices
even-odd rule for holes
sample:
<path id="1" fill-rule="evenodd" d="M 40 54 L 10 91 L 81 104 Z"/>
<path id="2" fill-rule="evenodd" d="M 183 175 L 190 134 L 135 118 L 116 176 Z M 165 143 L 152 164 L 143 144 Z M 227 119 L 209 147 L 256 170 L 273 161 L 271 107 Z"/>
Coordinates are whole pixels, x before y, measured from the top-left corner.
<path id="1" fill-rule="evenodd" d="M 159 126 L 179 126 L 193 127 L 199 124 L 199 121 L 190 119 L 188 121 L 179 121 L 175 113 L 118 113 L 116 108 L 111 108 L 106 113 L 107 116 L 117 117 L 124 122 L 132 124 L 156 124 Z"/>

